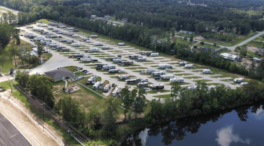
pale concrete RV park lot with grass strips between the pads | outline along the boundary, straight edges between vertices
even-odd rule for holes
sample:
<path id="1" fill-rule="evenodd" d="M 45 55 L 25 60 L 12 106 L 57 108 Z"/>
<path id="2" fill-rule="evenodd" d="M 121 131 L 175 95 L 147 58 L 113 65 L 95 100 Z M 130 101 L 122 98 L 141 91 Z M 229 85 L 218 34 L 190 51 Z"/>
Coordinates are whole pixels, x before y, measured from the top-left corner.
<path id="1" fill-rule="evenodd" d="M 47 24 L 46 24 L 47 25 Z M 41 28 L 44 29 L 44 31 L 53 32 L 52 30 L 48 30 L 48 27 L 37 27 L 37 24 L 33 25 L 34 28 Z M 33 32 L 36 36 L 42 36 L 45 38 L 45 34 L 40 34 L 40 32 L 32 31 L 31 28 L 25 28 L 21 27 L 20 29 L 25 30 L 21 31 L 21 34 L 30 33 Z M 55 27 L 54 27 L 55 29 Z M 62 31 L 63 28 L 56 28 L 60 29 Z M 117 86 L 121 86 L 123 88 L 125 85 L 124 80 L 120 81 L 117 79 L 117 76 L 128 74 L 131 77 L 137 77 L 140 79 L 148 79 L 149 84 L 164 84 L 164 89 L 157 92 L 149 92 L 146 96 L 148 100 L 152 100 L 154 98 L 157 99 L 157 97 L 160 97 L 161 95 L 168 95 L 170 94 L 171 86 L 169 85 L 169 80 L 155 80 L 154 77 L 152 77 L 149 73 L 139 73 L 140 71 L 145 71 L 145 69 L 152 68 L 155 71 L 165 71 L 166 74 L 173 74 L 175 78 L 185 78 L 184 83 L 181 85 L 182 87 L 191 86 L 194 85 L 198 80 L 204 81 L 209 84 L 209 87 L 215 87 L 214 84 L 224 84 L 225 86 L 229 86 L 231 88 L 239 87 L 238 84 L 231 84 L 233 83 L 233 78 L 230 77 L 224 77 L 224 78 L 218 78 L 215 76 L 221 77 L 221 74 L 214 74 L 213 71 L 210 74 L 204 74 L 202 73 L 201 67 L 194 64 L 194 67 L 192 68 L 185 68 L 184 65 L 179 65 L 178 61 L 171 60 L 168 58 L 165 58 L 163 56 L 146 56 L 146 54 L 139 54 L 142 50 L 133 48 L 125 43 L 123 46 L 117 45 L 115 42 L 111 42 L 106 39 L 100 38 L 100 35 L 98 37 L 89 37 L 91 43 L 86 43 L 86 41 L 80 41 L 82 38 L 87 38 L 87 34 L 83 32 L 73 32 L 75 35 L 79 37 L 70 37 L 65 36 L 62 34 L 56 34 L 55 35 L 61 35 L 62 38 L 48 38 L 52 40 L 52 42 L 56 42 L 58 46 L 63 46 L 66 48 L 69 48 L 70 51 L 64 52 L 64 51 L 57 51 L 56 49 L 51 49 L 51 47 L 44 46 L 45 51 L 50 52 L 53 54 L 53 56 L 44 64 L 41 64 L 40 66 L 28 70 L 30 74 L 35 74 L 36 72 L 39 72 L 40 74 L 43 74 L 44 72 L 57 69 L 58 67 L 64 67 L 64 66 L 80 66 L 83 69 L 88 70 L 92 74 L 86 75 L 97 75 L 102 78 L 101 83 L 103 83 L 105 80 L 108 80 L 110 84 L 115 83 Z M 30 41 L 28 37 L 20 36 L 20 38 L 32 45 L 34 45 L 33 41 Z M 45 38 L 47 39 L 47 38 Z M 80 43 L 81 46 L 71 46 L 71 44 L 66 42 L 60 42 L 61 39 L 69 39 L 74 40 L 74 43 Z M 101 46 L 95 46 L 93 43 L 103 43 L 103 46 L 110 46 L 113 49 L 101 49 Z M 121 43 L 121 42 L 120 42 Z M 90 52 L 86 51 L 89 50 L 89 48 L 99 48 L 98 52 Z M 142 51 L 144 52 L 144 51 Z M 118 73 L 108 73 L 105 70 L 96 70 L 95 66 L 93 65 L 95 62 L 87 62 L 87 63 L 81 63 L 80 60 L 77 60 L 76 58 L 68 58 L 69 55 L 73 54 L 83 54 L 83 55 L 91 55 L 92 59 L 97 59 L 97 62 L 105 62 L 108 65 L 116 65 L 117 69 L 124 69 L 124 73 L 118 72 Z M 154 53 L 154 52 L 153 52 Z M 105 60 L 109 57 L 117 57 L 117 55 L 121 55 L 121 58 L 124 59 L 124 61 L 133 61 L 133 65 L 117 65 L 117 63 L 114 63 L 112 60 Z M 129 59 L 129 55 L 139 55 L 146 58 L 145 61 L 135 61 L 134 59 Z M 120 57 L 119 57 L 120 58 Z M 172 68 L 170 70 L 165 70 L 165 68 L 155 68 L 159 66 L 159 64 L 170 64 Z M 77 70 L 76 70 L 77 71 Z M 230 80 L 230 81 L 228 81 Z M 131 85 L 129 85 L 131 86 Z M 137 88 L 136 85 L 131 86 L 131 90 L 133 88 Z M 108 95 L 108 93 L 103 93 L 105 95 Z M 155 96 L 155 97 L 154 97 Z"/>

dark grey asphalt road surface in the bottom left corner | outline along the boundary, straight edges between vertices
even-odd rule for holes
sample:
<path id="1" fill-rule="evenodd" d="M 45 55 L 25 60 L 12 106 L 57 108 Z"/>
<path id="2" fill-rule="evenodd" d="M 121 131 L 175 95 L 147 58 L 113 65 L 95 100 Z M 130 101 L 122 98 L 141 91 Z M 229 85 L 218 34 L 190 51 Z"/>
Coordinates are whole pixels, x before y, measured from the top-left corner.
<path id="1" fill-rule="evenodd" d="M 25 137 L 0 113 L 0 145 L 31 146 Z"/>

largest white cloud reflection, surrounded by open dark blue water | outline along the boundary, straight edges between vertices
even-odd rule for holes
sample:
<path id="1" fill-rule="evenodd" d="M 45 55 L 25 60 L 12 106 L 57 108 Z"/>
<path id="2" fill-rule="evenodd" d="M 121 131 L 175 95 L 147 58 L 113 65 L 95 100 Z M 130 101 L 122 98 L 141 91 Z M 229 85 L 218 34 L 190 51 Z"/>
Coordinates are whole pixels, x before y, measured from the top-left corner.
<path id="1" fill-rule="evenodd" d="M 232 142 L 250 144 L 250 139 L 243 140 L 238 134 L 233 134 L 233 125 L 217 130 L 216 135 L 215 141 L 221 146 L 229 146 Z"/>

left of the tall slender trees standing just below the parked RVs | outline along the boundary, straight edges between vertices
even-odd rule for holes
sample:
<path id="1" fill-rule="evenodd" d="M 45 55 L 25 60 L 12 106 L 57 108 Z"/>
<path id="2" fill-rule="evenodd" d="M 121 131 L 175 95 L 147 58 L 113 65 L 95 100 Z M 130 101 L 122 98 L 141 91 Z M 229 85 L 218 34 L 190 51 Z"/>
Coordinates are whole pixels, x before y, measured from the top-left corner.
<path id="1" fill-rule="evenodd" d="M 129 91 L 129 86 L 125 85 L 125 88 L 122 88 L 122 90 L 120 91 L 121 97 L 122 97 L 122 103 L 124 104 L 124 114 L 125 114 L 125 119 L 126 120 L 126 113 L 130 110 L 133 101 L 134 101 L 134 97 L 132 97 L 131 95 L 131 91 Z M 134 95 L 134 92 L 133 92 Z"/>

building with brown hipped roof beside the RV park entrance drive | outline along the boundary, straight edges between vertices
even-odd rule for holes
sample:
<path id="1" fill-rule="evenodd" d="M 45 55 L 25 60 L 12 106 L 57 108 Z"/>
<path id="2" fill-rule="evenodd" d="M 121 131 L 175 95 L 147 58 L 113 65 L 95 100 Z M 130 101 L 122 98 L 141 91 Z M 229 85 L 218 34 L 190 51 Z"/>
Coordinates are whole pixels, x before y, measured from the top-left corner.
<path id="1" fill-rule="evenodd" d="M 71 77 L 74 75 L 72 71 L 64 67 L 60 69 L 51 70 L 49 72 L 45 72 L 44 74 L 45 76 L 49 76 L 53 78 L 55 82 L 66 79 L 66 77 Z"/>

